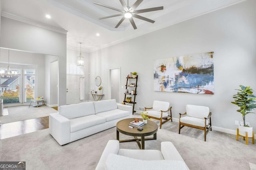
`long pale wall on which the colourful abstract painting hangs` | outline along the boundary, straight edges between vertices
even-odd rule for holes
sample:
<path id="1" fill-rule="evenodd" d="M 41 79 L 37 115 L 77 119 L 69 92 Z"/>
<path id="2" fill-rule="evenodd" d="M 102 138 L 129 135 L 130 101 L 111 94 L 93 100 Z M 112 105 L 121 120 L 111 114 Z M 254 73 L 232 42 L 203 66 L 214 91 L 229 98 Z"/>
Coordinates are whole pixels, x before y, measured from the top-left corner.
<path id="1" fill-rule="evenodd" d="M 153 100 L 168 101 L 173 106 L 173 117 L 178 119 L 186 104 L 203 105 L 212 111 L 212 125 L 236 130 L 234 121 L 242 121 L 242 115 L 230 103 L 236 94 L 234 89 L 242 84 L 256 90 L 255 6 L 255 0 L 247 0 L 90 53 L 90 82 L 101 76 L 102 86 L 107 89 L 108 70 L 121 67 L 124 86 L 126 76 L 136 71 L 136 110 L 152 106 Z M 214 51 L 214 95 L 153 90 L 154 60 L 210 51 Z M 108 92 L 104 93 L 104 99 L 108 99 Z M 123 100 L 124 89 L 121 94 Z M 256 131 L 256 115 L 250 113 L 246 120 Z"/>

